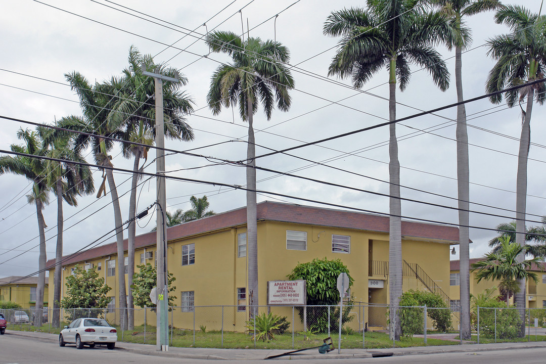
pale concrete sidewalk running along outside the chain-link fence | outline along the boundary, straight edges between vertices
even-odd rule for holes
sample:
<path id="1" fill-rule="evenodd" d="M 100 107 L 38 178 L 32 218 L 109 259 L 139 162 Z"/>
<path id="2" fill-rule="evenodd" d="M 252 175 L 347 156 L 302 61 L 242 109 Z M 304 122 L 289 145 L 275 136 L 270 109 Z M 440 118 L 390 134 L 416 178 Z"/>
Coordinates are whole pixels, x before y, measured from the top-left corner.
<path id="1" fill-rule="evenodd" d="M 51 342 L 58 345 L 58 336 L 46 332 L 30 331 L 11 331 L 5 332 L 5 335 L 16 335 L 28 338 L 38 339 L 40 341 Z M 342 349 L 341 354 L 337 354 L 337 349 L 327 354 L 319 354 L 318 349 L 301 351 L 300 353 L 283 356 L 278 359 L 361 359 L 376 356 L 393 355 L 422 355 L 422 354 L 440 354 L 440 353 L 478 353 L 479 351 L 489 350 L 508 350 L 508 349 L 528 349 L 528 348 L 546 348 L 546 342 L 523 342 L 523 343 L 496 343 L 496 344 L 464 344 L 464 345 L 444 345 L 431 347 L 412 347 L 412 348 L 390 348 L 390 349 Z M 265 349 L 209 349 L 209 348 L 175 348 L 170 347 L 169 351 L 161 352 L 156 350 L 156 345 L 116 343 L 117 350 L 127 350 L 132 353 L 179 357 L 181 359 L 213 359 L 213 360 L 262 360 L 266 356 L 286 353 L 288 350 L 265 350 Z M 273 359 L 275 360 L 275 359 Z"/>

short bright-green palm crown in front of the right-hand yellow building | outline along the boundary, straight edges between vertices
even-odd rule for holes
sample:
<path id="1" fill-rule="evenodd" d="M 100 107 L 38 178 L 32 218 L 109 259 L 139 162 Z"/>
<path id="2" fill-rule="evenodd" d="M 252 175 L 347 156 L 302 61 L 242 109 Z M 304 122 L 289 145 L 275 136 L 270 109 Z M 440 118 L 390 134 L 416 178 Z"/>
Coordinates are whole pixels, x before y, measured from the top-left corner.
<path id="1" fill-rule="evenodd" d="M 535 283 L 538 283 L 537 273 L 531 272 L 529 269 L 532 263 L 542 265 L 542 259 L 535 257 L 520 261 L 519 256 L 525 256 L 526 253 L 526 247 L 510 242 L 509 236 L 502 237 L 498 253 L 489 252 L 484 255 L 482 260 L 472 264 L 472 270 L 477 270 L 477 283 L 482 279 L 501 281 L 498 288 L 502 294 L 506 295 L 506 306 L 508 307 L 509 296 L 520 290 L 518 281 L 526 282 L 531 278 Z"/>

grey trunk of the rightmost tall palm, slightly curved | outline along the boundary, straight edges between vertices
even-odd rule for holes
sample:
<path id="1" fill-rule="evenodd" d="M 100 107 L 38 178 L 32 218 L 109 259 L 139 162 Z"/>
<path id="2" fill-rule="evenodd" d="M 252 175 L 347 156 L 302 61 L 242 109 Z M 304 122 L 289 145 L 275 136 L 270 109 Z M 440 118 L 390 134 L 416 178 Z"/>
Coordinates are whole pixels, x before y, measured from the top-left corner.
<path id="1" fill-rule="evenodd" d="M 525 213 L 527 208 L 527 157 L 531 142 L 531 112 L 535 90 L 531 87 L 527 94 L 527 108 L 521 126 L 518 153 L 518 176 L 516 181 L 515 202 L 515 241 L 520 247 L 525 246 Z M 525 254 L 518 255 L 518 262 L 525 259 Z M 519 281 L 519 292 L 514 294 L 514 301 L 521 317 L 520 337 L 525 336 L 525 307 L 527 306 L 525 279 Z"/>

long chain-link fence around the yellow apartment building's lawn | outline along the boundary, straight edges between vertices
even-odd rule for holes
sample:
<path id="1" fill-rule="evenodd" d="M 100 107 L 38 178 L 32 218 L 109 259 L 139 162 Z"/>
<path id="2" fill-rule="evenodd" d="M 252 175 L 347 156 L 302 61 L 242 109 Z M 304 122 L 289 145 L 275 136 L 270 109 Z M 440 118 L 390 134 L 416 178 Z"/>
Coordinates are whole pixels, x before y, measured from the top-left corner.
<path id="1" fill-rule="evenodd" d="M 364 303 L 344 303 L 341 315 L 343 337 L 350 337 L 361 348 L 372 348 L 370 337 L 382 333 L 388 337 L 390 332 L 388 305 L 368 305 Z M 396 307 L 400 317 L 402 339 L 423 338 L 424 345 L 430 338 L 460 341 L 460 315 L 457 307 L 430 308 Z M 106 319 L 118 330 L 120 341 L 144 344 L 156 343 L 157 315 L 155 308 L 132 309 L 134 327 L 128 330 L 126 316 L 128 309 L 121 308 L 78 308 L 59 309 L 61 327 L 51 324 L 52 308 L 44 308 L 41 331 L 58 333 L 75 319 L 99 317 Z M 33 326 L 33 308 L 0 309 L 8 321 L 8 330 L 36 330 Z M 477 307 L 471 315 L 472 341 L 488 343 L 520 340 L 522 327 L 517 308 Z M 269 339 L 267 335 L 281 338 L 288 347 L 295 342 L 332 337 L 334 342 L 340 329 L 339 306 L 191 306 L 169 307 L 169 344 L 179 347 L 210 345 L 222 348 L 228 344 L 233 347 L 235 337 L 240 340 L 241 333 L 248 336 L 248 345 Z M 526 309 L 524 323 L 528 340 L 543 340 L 546 337 L 546 308 Z M 238 336 L 237 336 L 238 335 Z M 366 342 L 368 340 L 368 342 Z M 291 345 L 290 345 L 291 342 Z M 395 347 L 397 343 L 391 341 Z M 361 345 L 361 346 L 360 346 Z M 341 343 L 343 348 L 343 343 Z"/>

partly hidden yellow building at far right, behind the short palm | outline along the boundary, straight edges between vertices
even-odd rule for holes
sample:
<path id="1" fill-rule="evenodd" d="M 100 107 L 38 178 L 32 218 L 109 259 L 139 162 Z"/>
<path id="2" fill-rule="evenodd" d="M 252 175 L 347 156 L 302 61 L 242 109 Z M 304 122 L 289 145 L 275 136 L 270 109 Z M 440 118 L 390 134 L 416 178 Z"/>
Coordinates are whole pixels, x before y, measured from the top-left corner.
<path id="1" fill-rule="evenodd" d="M 481 260 L 481 258 L 470 259 L 470 265 Z M 527 281 L 526 296 L 527 307 L 529 308 L 542 308 L 546 307 L 546 272 L 536 264 L 531 265 L 530 271 L 533 271 L 538 276 L 538 284 L 532 279 Z M 459 306 L 460 302 L 460 261 L 450 261 L 450 273 L 449 273 L 449 297 L 451 297 L 451 306 Z M 476 280 L 476 272 L 470 271 L 470 293 L 477 295 L 482 293 L 488 288 L 496 287 L 496 293 L 500 295 L 498 291 L 499 281 L 490 281 L 482 279 L 479 283 Z M 514 298 L 510 297 L 509 301 L 513 303 Z"/>

